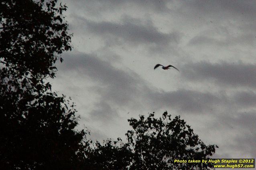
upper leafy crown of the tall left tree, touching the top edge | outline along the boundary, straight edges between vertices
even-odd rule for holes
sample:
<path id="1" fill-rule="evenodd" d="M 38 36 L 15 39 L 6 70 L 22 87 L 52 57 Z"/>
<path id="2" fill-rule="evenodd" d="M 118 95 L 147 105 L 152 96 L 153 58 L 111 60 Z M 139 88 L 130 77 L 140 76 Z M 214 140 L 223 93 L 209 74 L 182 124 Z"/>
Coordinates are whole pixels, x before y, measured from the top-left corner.
<path id="1" fill-rule="evenodd" d="M 71 50 L 71 36 L 57 0 L 3 0 L 0 3 L 1 62 L 17 76 L 54 77 L 53 66 L 63 50 Z M 62 61 L 62 59 L 61 59 Z"/>

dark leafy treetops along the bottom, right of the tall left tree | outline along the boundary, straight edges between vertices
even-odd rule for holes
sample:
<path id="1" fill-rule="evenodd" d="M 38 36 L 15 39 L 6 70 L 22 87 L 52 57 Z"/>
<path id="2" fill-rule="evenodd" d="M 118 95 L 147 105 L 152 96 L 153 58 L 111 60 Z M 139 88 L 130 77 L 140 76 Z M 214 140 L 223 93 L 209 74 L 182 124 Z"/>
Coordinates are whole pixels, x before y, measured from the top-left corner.
<path id="1" fill-rule="evenodd" d="M 86 150 L 85 159 L 101 165 L 102 170 L 188 170 L 210 169 L 212 164 L 177 164 L 178 160 L 205 160 L 215 153 L 216 145 L 205 145 L 180 116 L 171 119 L 149 114 L 147 118 L 128 120 L 133 130 L 126 133 L 127 143 L 106 141 Z M 114 158 L 114 159 L 113 159 Z M 122 164 L 122 166 L 121 166 Z M 120 168 L 122 167 L 122 168 Z"/>

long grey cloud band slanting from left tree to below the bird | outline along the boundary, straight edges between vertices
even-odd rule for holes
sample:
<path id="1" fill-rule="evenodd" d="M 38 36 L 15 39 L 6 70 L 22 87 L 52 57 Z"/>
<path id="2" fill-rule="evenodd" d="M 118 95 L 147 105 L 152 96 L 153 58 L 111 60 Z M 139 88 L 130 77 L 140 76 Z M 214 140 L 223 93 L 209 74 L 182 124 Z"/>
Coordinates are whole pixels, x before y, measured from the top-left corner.
<path id="1" fill-rule="evenodd" d="M 66 72 L 76 70 L 97 84 L 90 90 L 101 95 L 99 106 L 104 106 L 110 112 L 115 112 L 111 110 L 110 105 L 118 105 L 132 108 L 145 106 L 155 110 L 171 107 L 179 113 L 202 113 L 227 100 L 223 96 L 217 97 L 209 92 L 187 89 L 159 91 L 132 70 L 114 68 L 110 62 L 100 60 L 91 54 L 68 57 L 65 58 L 65 62 L 69 63 L 63 66 Z M 142 100 L 144 102 L 141 102 Z M 103 109 L 98 112 L 103 112 Z"/>

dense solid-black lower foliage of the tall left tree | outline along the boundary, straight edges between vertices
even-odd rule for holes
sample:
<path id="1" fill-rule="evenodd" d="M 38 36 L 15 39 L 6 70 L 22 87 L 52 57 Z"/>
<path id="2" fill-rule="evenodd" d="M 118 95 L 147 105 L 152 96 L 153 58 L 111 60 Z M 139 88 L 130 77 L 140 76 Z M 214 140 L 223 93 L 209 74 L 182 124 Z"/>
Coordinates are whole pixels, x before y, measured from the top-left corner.
<path id="1" fill-rule="evenodd" d="M 2 103 L 0 169 L 76 169 L 85 132 L 74 130 L 77 118 L 68 104 L 54 93 L 29 102 L 13 98 Z"/>

